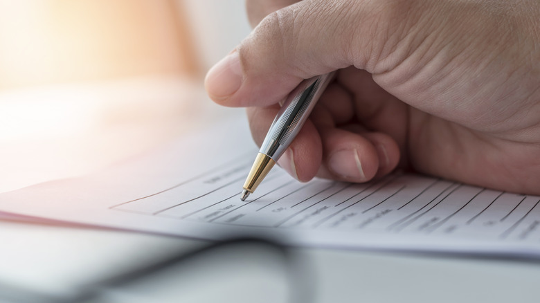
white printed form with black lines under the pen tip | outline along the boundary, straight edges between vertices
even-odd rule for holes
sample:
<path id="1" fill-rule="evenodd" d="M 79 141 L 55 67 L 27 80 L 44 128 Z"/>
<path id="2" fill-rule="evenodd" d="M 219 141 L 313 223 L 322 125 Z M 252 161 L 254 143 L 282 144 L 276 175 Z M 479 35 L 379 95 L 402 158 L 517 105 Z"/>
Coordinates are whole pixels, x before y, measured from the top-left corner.
<path id="1" fill-rule="evenodd" d="M 201 239 L 540 257 L 540 196 L 415 174 L 299 183 L 279 168 L 240 192 L 257 149 L 245 121 L 85 178 L 0 195 L 0 211 Z"/>

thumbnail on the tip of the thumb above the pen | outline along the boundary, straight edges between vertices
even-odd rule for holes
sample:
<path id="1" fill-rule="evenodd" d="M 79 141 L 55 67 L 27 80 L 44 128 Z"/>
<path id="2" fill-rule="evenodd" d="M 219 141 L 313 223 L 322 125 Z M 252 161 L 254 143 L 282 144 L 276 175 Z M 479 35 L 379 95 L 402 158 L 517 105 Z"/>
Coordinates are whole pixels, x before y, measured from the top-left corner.
<path id="1" fill-rule="evenodd" d="M 237 52 L 231 53 L 206 74 L 206 91 L 213 98 L 227 98 L 240 89 L 243 77 L 240 57 Z"/>

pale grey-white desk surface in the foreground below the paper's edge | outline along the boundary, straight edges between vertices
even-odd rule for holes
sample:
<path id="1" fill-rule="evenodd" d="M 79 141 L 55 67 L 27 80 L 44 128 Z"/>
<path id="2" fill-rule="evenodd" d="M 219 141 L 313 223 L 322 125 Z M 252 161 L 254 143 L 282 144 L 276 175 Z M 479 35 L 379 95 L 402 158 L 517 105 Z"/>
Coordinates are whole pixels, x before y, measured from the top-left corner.
<path id="1" fill-rule="evenodd" d="M 0 222 L 0 230 L 0 256 L 9 260 L 0 263 L 0 283 L 53 295 L 205 244 L 6 221 Z M 540 294 L 540 266 L 530 262 L 327 249 L 295 252 L 314 277 L 316 302 L 537 302 Z M 280 270 L 243 250 L 227 254 L 120 288 L 113 301 L 285 302 L 286 279 Z"/>

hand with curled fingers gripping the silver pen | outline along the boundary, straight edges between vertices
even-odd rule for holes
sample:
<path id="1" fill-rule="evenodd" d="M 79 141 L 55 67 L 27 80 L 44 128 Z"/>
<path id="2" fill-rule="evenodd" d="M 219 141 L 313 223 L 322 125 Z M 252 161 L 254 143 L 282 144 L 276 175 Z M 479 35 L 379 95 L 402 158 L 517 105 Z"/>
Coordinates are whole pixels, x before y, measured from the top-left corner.
<path id="1" fill-rule="evenodd" d="M 258 26 L 206 77 L 215 102 L 248 107 L 260 144 L 301 80 L 339 69 L 279 161 L 292 176 L 399 166 L 540 194 L 538 1 L 295 2 L 249 0 Z"/>

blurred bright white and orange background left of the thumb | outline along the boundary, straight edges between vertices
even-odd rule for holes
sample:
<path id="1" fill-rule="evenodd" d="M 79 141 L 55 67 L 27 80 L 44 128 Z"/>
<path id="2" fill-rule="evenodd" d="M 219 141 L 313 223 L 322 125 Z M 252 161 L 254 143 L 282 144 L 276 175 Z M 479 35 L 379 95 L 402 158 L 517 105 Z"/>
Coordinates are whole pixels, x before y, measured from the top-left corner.
<path id="1" fill-rule="evenodd" d="M 243 0 L 0 0 L 0 192 L 237 113 L 203 80 L 249 32 Z"/>

